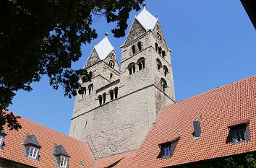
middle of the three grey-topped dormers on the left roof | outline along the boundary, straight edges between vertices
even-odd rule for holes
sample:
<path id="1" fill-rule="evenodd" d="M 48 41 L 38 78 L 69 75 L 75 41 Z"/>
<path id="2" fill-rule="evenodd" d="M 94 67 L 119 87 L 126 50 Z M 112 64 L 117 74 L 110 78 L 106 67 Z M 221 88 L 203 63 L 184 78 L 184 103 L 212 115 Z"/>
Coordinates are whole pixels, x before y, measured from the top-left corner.
<path id="1" fill-rule="evenodd" d="M 25 141 L 23 142 L 24 155 L 30 159 L 38 160 L 38 154 L 40 151 L 40 144 L 34 135 L 30 136 L 27 133 Z"/>

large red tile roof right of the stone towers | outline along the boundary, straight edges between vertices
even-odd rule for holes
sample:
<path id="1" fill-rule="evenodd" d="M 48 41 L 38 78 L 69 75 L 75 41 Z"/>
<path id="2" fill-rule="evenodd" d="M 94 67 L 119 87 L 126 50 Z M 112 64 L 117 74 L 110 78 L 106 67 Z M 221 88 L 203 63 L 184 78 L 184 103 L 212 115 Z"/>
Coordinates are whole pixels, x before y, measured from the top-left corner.
<path id="1" fill-rule="evenodd" d="M 256 76 L 165 107 L 129 167 L 168 167 L 256 150 Z M 250 141 L 228 143 L 229 125 L 249 119 Z M 193 121 L 202 136 L 194 138 Z M 241 123 L 241 122 L 239 122 Z M 173 156 L 157 159 L 158 144 L 181 137 Z M 150 165 L 150 166 L 149 166 Z"/>

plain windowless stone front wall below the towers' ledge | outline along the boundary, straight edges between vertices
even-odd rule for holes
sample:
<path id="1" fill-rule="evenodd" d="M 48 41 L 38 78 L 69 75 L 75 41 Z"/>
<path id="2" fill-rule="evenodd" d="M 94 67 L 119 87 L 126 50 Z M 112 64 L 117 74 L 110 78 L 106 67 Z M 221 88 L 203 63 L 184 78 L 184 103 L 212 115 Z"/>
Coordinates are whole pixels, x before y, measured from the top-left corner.
<path id="1" fill-rule="evenodd" d="M 155 118 L 153 94 L 151 86 L 73 118 L 69 136 L 87 141 L 97 157 L 137 149 Z"/>

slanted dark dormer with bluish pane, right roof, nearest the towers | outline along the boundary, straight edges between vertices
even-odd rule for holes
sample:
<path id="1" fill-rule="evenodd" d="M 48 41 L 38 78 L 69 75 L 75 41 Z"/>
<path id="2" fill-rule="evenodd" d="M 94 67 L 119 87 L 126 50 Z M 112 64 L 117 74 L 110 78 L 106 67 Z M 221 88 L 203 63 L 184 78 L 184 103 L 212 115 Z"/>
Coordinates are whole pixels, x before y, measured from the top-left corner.
<path id="1" fill-rule="evenodd" d="M 180 137 L 177 137 L 166 143 L 159 144 L 158 146 L 160 147 L 161 151 L 160 154 L 158 155 L 158 158 L 165 159 L 171 157 L 174 154 L 174 149 L 176 148 L 179 138 Z"/>

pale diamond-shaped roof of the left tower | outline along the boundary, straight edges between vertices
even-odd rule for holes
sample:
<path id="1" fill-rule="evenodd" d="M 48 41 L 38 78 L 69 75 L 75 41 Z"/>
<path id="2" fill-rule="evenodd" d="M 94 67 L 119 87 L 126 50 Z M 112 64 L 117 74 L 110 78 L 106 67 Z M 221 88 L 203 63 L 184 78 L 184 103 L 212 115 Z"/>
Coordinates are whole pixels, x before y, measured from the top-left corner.
<path id="1" fill-rule="evenodd" d="M 101 40 L 100 43 L 94 46 L 98 57 L 103 60 L 105 59 L 109 53 L 111 53 L 112 50 L 114 50 L 113 45 L 108 40 L 108 37 L 104 37 L 103 40 Z"/>

